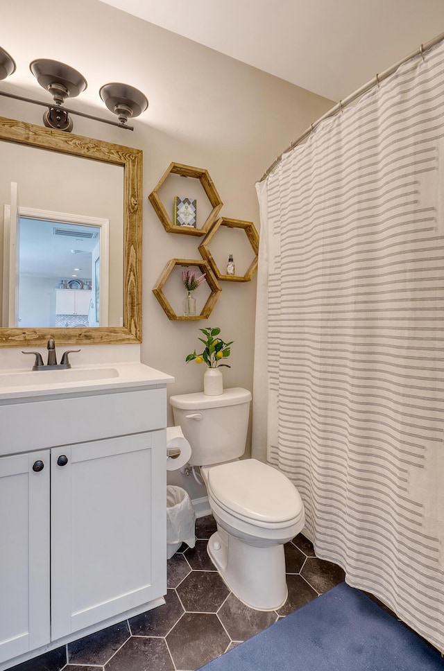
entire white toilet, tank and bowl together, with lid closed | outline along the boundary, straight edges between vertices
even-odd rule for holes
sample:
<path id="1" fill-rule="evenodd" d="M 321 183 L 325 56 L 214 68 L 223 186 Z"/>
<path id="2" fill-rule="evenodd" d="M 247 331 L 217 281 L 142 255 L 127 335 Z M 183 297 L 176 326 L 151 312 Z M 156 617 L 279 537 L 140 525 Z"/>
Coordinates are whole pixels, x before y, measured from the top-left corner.
<path id="1" fill-rule="evenodd" d="M 200 467 L 217 531 L 208 554 L 231 591 L 257 610 L 287 600 L 284 543 L 305 523 L 302 500 L 283 473 L 245 451 L 251 393 L 235 387 L 169 399 L 174 424 L 191 445 L 189 464 Z"/>

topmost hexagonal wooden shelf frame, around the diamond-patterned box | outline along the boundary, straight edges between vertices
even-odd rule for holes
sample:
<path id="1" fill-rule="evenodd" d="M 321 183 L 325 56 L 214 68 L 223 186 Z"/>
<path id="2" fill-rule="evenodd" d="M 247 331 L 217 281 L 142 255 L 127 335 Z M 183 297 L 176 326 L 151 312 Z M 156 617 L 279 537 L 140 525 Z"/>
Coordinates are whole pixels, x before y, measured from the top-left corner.
<path id="1" fill-rule="evenodd" d="M 194 177 L 194 179 L 200 180 L 200 184 L 202 184 L 203 190 L 207 194 L 207 198 L 210 200 L 210 204 L 212 204 L 213 208 L 202 227 L 193 228 L 188 226 L 175 226 L 171 221 L 171 218 L 169 218 L 167 210 L 165 209 L 162 200 L 160 200 L 158 191 L 171 173 L 174 175 L 181 175 L 182 177 Z M 155 186 L 150 195 L 148 195 L 148 198 L 167 233 L 180 233 L 185 235 L 205 235 L 214 224 L 223 205 L 219 193 L 217 193 L 216 187 L 212 182 L 210 173 L 208 173 L 207 170 L 204 170 L 203 168 L 193 168 L 192 166 L 184 166 L 180 163 L 169 164 L 167 171 L 162 175 L 160 182 Z"/>

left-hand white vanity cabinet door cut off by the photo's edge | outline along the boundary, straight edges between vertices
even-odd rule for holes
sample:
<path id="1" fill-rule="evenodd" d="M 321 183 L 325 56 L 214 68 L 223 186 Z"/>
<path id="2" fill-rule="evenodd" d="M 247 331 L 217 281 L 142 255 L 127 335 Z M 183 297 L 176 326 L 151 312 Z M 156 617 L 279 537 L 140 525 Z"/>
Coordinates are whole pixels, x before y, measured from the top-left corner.
<path id="1" fill-rule="evenodd" d="M 50 641 L 49 471 L 49 450 L 0 458 L 0 663 Z"/>

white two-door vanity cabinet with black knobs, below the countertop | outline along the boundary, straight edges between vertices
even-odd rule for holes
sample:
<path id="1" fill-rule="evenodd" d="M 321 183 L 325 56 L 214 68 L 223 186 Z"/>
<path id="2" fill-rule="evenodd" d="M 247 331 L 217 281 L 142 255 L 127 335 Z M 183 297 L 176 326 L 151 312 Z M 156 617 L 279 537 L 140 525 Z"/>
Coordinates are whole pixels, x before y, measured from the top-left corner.
<path id="1" fill-rule="evenodd" d="M 2 671 L 164 603 L 167 392 L 0 399 L 0 426 Z"/>

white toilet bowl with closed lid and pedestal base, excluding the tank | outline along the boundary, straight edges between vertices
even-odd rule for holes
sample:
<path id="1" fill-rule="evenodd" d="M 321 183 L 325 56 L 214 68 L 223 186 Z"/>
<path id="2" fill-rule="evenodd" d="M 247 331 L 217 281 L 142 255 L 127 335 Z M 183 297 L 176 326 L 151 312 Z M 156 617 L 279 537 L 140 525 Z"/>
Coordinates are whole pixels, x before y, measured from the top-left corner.
<path id="1" fill-rule="evenodd" d="M 258 610 L 287 600 L 284 543 L 304 526 L 298 490 L 255 459 L 201 469 L 217 531 L 207 551 L 234 595 Z"/>

